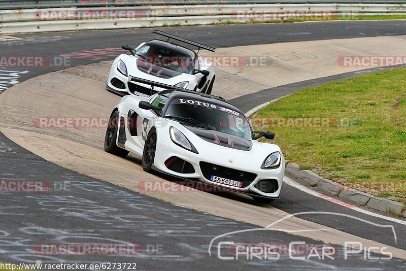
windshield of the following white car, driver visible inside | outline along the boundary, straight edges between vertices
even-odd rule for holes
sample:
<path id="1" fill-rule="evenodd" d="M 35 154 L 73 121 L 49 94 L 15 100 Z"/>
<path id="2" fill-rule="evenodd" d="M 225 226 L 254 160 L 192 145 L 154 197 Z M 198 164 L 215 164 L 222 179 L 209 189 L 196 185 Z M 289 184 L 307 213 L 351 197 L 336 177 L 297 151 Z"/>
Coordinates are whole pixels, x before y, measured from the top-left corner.
<path id="1" fill-rule="evenodd" d="M 137 50 L 136 55 L 141 56 L 145 62 L 153 63 L 173 71 L 192 74 L 194 70 L 194 59 L 176 50 L 176 46 L 171 48 L 169 45 L 146 44 Z"/>

